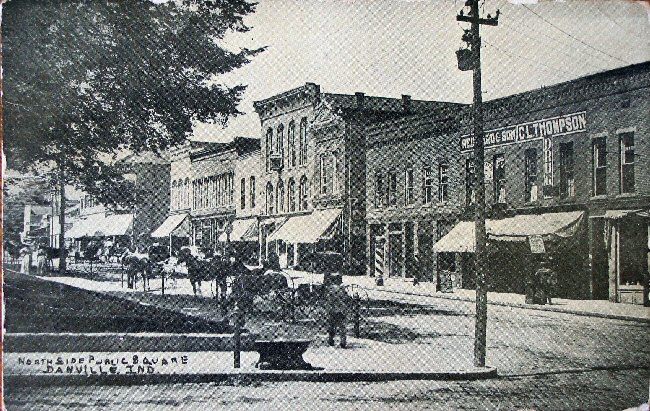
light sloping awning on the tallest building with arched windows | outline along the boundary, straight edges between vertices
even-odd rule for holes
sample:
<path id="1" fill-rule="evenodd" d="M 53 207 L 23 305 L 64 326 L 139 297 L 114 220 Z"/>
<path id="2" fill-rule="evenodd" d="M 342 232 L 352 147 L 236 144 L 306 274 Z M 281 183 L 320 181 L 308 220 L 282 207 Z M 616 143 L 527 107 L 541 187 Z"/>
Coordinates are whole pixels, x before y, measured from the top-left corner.
<path id="1" fill-rule="evenodd" d="M 267 241 L 284 240 L 293 244 L 315 243 L 328 233 L 340 215 L 340 208 L 330 208 L 290 217 L 268 237 Z"/>

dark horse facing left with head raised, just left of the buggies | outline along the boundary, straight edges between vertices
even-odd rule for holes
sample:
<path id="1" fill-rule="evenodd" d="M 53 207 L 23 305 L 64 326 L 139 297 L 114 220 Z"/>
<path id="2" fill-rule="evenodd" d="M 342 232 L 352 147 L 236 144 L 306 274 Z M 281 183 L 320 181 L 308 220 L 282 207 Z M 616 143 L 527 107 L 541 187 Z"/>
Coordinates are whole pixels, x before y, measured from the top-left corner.
<path id="1" fill-rule="evenodd" d="M 203 295 L 201 292 L 201 281 L 215 281 L 217 298 L 225 300 L 228 288 L 227 279 L 231 274 L 230 264 L 215 257 L 212 260 L 204 260 L 192 255 L 188 248 L 183 248 L 178 254 L 178 262 L 185 263 L 187 274 L 190 277 L 194 295 Z"/>

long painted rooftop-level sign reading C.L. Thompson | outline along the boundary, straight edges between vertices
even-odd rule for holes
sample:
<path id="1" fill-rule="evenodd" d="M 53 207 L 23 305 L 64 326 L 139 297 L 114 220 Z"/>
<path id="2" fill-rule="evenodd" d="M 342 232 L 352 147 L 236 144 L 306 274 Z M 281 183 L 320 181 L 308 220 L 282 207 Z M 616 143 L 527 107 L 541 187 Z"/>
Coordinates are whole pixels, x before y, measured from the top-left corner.
<path id="1" fill-rule="evenodd" d="M 585 111 L 566 114 L 558 117 L 545 118 L 528 123 L 515 124 L 485 131 L 483 142 L 485 148 L 518 144 L 542 138 L 563 136 L 580 133 L 587 130 L 587 113 Z M 474 149 L 474 136 L 466 135 L 460 138 L 460 151 Z"/>

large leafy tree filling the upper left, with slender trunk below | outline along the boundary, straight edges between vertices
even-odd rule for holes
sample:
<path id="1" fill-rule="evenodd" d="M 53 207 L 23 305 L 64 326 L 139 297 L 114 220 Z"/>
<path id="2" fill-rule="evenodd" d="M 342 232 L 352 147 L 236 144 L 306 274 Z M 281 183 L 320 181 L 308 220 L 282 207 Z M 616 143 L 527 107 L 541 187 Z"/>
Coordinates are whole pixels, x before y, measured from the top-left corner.
<path id="1" fill-rule="evenodd" d="M 249 30 L 243 19 L 254 10 L 245 0 L 8 2 L 8 165 L 45 167 L 62 196 L 74 184 L 100 201 L 129 201 L 116 189 L 128 186 L 112 161 L 117 152 L 160 153 L 182 144 L 194 120 L 225 125 L 241 114 L 246 87 L 215 79 L 263 50 L 221 46 L 226 34 Z"/>

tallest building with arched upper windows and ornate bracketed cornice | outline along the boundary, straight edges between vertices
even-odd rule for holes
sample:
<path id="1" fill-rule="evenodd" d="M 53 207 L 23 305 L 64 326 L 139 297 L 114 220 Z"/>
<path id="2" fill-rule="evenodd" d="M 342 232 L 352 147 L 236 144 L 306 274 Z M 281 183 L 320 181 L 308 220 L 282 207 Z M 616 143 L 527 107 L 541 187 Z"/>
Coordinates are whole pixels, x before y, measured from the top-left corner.
<path id="1" fill-rule="evenodd" d="M 256 102 L 264 167 L 260 257 L 271 249 L 283 266 L 363 273 L 365 127 L 438 105 L 323 93 L 313 83 Z"/>

